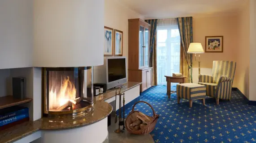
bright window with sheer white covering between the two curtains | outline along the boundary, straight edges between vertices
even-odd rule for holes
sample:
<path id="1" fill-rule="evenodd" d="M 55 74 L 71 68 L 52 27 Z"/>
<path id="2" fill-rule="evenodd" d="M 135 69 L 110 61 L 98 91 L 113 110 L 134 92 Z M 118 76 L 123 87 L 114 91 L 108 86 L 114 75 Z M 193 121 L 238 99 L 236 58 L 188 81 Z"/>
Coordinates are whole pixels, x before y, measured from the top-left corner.
<path id="1" fill-rule="evenodd" d="M 177 25 L 157 26 L 157 84 L 166 85 L 165 75 L 180 72 L 181 39 Z"/>

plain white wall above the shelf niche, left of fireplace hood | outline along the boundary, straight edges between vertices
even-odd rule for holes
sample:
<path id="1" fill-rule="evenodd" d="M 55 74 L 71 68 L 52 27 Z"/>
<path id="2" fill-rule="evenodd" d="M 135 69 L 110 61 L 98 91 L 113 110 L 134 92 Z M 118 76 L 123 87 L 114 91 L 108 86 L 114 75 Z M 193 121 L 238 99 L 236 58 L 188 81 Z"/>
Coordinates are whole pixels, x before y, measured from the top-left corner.
<path id="1" fill-rule="evenodd" d="M 32 67 L 33 0 L 0 0 L 0 69 Z"/>

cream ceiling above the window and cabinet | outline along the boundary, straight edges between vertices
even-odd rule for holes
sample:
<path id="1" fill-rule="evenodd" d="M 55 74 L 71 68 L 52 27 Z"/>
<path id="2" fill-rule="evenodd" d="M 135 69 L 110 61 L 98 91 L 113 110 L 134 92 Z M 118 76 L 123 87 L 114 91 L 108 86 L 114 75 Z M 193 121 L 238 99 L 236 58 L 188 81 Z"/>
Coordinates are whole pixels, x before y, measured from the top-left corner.
<path id="1" fill-rule="evenodd" d="M 246 0 L 119 0 L 150 18 L 234 14 Z"/>

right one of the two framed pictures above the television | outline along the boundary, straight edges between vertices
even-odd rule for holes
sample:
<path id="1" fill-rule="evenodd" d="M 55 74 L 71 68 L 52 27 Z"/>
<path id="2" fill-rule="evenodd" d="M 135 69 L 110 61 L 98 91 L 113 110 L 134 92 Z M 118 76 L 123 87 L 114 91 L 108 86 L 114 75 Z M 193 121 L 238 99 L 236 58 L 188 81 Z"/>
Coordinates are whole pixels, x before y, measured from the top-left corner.
<path id="1" fill-rule="evenodd" d="M 115 56 L 123 56 L 123 31 L 115 29 Z"/>

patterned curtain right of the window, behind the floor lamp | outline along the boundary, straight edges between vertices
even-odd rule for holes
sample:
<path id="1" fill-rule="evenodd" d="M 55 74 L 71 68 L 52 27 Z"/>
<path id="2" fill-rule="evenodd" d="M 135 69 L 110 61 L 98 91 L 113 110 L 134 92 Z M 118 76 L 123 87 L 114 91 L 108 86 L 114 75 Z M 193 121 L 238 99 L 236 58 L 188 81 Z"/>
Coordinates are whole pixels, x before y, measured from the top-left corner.
<path id="1" fill-rule="evenodd" d="M 192 83 L 192 54 L 188 54 L 190 42 L 193 42 L 193 27 L 192 17 L 179 17 L 177 18 L 178 27 L 181 36 L 181 47 L 183 50 L 181 70 L 183 76 L 186 76 L 186 83 Z"/>

